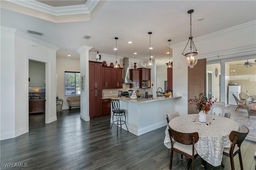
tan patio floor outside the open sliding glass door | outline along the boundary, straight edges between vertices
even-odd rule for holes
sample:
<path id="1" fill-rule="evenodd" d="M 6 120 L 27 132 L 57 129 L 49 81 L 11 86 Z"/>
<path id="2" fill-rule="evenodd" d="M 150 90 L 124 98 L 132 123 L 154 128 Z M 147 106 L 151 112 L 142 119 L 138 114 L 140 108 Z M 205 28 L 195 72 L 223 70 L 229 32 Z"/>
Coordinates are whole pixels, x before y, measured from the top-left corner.
<path id="1" fill-rule="evenodd" d="M 226 112 L 230 113 L 230 119 L 236 121 L 239 126 L 246 125 L 249 129 L 248 136 L 256 137 L 256 116 L 250 116 L 248 118 L 248 112 L 246 107 L 244 109 L 239 109 L 238 112 L 235 111 L 236 106 L 228 105 L 226 106 Z"/>

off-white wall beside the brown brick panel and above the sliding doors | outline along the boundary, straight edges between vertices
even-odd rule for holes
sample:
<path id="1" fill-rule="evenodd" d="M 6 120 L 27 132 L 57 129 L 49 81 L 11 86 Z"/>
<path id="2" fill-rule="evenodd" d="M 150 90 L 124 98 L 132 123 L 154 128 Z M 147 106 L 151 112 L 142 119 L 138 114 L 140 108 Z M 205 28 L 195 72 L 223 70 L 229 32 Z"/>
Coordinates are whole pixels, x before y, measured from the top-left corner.
<path id="1" fill-rule="evenodd" d="M 228 53 L 228 50 L 256 45 L 255 21 L 194 38 L 193 40 L 199 51 L 198 57 L 206 54 L 216 54 L 215 56 L 217 57 L 217 54 Z M 182 96 L 176 102 L 176 111 L 179 111 L 180 114 L 188 113 L 188 69 L 192 69 L 188 68 L 184 56 L 181 55 L 186 42 L 171 46 L 173 62 L 175 63 L 175 66 L 173 66 L 173 92 L 175 96 Z M 237 55 L 242 56 L 243 53 L 238 53 Z"/>

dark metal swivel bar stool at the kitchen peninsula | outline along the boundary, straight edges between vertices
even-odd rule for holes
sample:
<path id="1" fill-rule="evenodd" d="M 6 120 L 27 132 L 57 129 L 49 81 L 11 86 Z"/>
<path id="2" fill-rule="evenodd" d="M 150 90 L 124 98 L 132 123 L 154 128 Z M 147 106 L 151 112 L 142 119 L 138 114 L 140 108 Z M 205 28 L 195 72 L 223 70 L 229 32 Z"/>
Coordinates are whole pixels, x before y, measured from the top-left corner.
<path id="1" fill-rule="evenodd" d="M 117 135 L 118 135 L 118 125 L 120 125 L 121 130 L 122 130 L 122 125 L 125 124 L 126 125 L 126 115 L 125 115 L 125 110 L 124 109 L 120 109 L 120 102 L 119 99 L 112 99 L 111 100 L 111 104 L 112 104 L 112 125 L 110 127 L 110 131 L 111 128 L 113 126 L 113 124 L 117 125 Z M 116 116 L 116 121 L 114 121 L 114 116 Z M 122 116 L 124 116 L 124 120 L 122 120 Z M 126 129 L 128 131 L 128 127 L 126 125 Z"/>

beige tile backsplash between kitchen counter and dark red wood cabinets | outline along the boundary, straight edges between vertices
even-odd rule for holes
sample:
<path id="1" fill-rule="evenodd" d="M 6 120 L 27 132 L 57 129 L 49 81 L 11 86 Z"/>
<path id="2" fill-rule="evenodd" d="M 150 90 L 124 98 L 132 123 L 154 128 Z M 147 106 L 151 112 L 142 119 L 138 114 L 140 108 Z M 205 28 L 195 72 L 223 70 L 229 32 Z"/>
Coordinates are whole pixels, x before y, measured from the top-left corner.
<path id="1" fill-rule="evenodd" d="M 103 89 L 102 90 L 102 97 L 104 96 L 118 96 L 118 91 L 128 91 L 130 84 L 123 83 L 123 88 L 118 89 Z M 139 90 L 141 96 L 145 96 L 145 92 L 148 92 L 148 95 L 152 95 L 153 90 L 152 88 L 132 88 L 132 90 Z"/>

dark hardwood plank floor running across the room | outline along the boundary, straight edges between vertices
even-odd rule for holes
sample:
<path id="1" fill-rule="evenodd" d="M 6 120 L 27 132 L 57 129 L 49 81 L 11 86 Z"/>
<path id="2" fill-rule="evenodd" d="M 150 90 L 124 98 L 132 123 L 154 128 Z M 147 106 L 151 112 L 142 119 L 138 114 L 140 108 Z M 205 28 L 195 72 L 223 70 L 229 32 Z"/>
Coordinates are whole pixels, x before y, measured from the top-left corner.
<path id="1" fill-rule="evenodd" d="M 164 146 L 162 127 L 139 137 L 116 126 L 110 131 L 110 117 L 84 121 L 80 109 L 57 113 L 57 121 L 44 124 L 44 114 L 32 114 L 29 133 L 0 141 L 3 169 L 26 170 L 168 170 L 170 150 Z M 145 118 L 146 119 L 146 118 Z M 255 170 L 256 143 L 242 143 L 244 170 Z M 238 155 L 234 158 L 240 170 Z M 180 160 L 174 152 L 173 170 L 186 168 L 188 160 Z M 24 168 L 5 168 L 3 163 L 27 163 Z M 207 170 L 230 170 L 230 160 L 223 156 L 225 168 L 207 164 Z M 203 170 L 201 158 L 195 170 Z M 191 167 L 190 167 L 191 168 Z"/>

